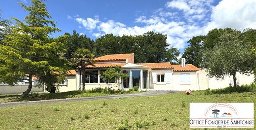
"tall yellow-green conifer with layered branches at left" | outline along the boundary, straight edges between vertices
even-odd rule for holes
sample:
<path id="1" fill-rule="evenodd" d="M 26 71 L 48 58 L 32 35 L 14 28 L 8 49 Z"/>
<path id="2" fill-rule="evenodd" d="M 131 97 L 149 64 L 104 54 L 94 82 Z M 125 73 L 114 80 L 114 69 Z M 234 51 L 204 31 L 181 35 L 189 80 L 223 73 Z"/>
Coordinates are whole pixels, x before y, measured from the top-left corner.
<path id="1" fill-rule="evenodd" d="M 55 27 L 56 22 L 49 20 L 51 16 L 42 0 L 32 0 L 31 6 L 19 4 L 29 15 L 25 16 L 24 22 L 13 18 L 16 24 L 0 45 L 0 81 L 14 85 L 28 80 L 28 89 L 23 92 L 26 97 L 32 88 L 32 75 L 50 84 L 54 81 L 45 80 L 47 77 L 64 74 L 68 67 L 67 61 L 60 58 L 65 52 L 61 42 L 65 36 L 49 37 L 61 30 Z"/>

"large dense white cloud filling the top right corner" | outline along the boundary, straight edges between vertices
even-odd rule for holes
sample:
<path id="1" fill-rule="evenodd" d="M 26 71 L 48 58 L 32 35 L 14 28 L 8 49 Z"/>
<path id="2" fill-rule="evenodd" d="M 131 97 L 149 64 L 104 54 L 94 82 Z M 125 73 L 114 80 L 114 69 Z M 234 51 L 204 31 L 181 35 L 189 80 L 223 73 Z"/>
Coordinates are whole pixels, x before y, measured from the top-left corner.
<path id="1" fill-rule="evenodd" d="M 211 22 L 206 30 L 212 28 L 256 28 L 256 0 L 223 0 L 213 8 Z"/>

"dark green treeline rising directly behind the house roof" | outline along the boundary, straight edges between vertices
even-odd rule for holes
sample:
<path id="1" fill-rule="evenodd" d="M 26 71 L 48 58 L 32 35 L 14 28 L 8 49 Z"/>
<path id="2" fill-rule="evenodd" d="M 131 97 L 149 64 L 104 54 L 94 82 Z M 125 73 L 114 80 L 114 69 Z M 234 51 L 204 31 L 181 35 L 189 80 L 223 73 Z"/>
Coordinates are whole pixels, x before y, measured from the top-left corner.
<path id="1" fill-rule="evenodd" d="M 108 54 L 134 53 L 135 63 L 172 62 L 177 63 L 179 50 L 166 43 L 167 35 L 155 32 L 147 32 L 135 36 L 114 36 L 106 34 L 95 41 L 86 35 L 79 35 L 75 30 L 73 34 L 65 33 L 67 39 L 67 51 L 65 57 L 70 61 L 72 54 L 78 48 L 91 50 L 95 57 Z"/>

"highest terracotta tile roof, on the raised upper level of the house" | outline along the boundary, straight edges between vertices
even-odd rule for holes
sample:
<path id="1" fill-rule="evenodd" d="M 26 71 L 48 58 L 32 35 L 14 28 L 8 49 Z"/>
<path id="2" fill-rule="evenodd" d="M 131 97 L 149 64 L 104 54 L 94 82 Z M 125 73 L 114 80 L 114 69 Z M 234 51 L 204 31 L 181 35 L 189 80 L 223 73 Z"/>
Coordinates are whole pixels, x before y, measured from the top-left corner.
<path id="1" fill-rule="evenodd" d="M 105 55 L 101 57 L 94 58 L 95 61 L 120 61 L 126 60 L 127 58 L 133 56 L 134 53 L 131 54 L 115 54 L 115 55 Z"/>

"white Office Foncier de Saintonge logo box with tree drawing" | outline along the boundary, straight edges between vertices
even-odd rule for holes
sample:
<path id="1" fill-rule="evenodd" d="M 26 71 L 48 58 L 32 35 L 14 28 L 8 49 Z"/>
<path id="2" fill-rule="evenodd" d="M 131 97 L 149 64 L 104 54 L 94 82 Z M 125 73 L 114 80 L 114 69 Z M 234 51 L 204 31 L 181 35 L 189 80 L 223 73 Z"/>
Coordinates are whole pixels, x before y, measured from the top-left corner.
<path id="1" fill-rule="evenodd" d="M 253 103 L 190 103 L 190 128 L 253 128 Z"/>

